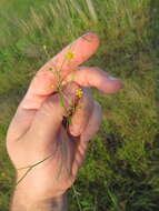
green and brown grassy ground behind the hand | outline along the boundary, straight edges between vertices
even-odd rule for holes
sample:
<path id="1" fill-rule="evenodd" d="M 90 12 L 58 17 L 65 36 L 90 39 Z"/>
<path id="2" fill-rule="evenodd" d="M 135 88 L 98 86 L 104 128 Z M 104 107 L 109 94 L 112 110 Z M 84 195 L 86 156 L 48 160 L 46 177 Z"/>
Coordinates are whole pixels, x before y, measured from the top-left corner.
<path id="1" fill-rule="evenodd" d="M 92 3 L 93 2 L 93 3 Z M 14 171 L 4 137 L 31 77 L 87 31 L 101 48 L 87 63 L 121 78 L 115 96 L 95 90 L 103 122 L 70 189 L 70 211 L 159 210 L 158 0 L 12 0 L 0 2 L 0 211 L 7 211 Z M 64 21 L 63 21 L 64 20 Z"/>

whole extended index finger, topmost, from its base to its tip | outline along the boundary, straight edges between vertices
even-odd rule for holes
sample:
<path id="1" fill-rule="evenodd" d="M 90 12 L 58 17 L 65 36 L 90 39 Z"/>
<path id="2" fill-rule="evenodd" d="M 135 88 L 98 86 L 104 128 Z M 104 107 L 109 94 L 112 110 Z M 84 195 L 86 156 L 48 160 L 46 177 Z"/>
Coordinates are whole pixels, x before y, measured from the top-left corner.
<path id="1" fill-rule="evenodd" d="M 48 69 L 54 68 L 54 66 L 57 69 L 61 67 L 61 76 L 66 76 L 77 66 L 91 57 L 91 54 L 93 54 L 97 50 L 98 46 L 98 37 L 93 33 L 87 33 L 77 39 L 70 46 L 66 47 L 58 56 L 56 56 L 40 69 L 40 71 L 31 81 L 29 90 L 21 101 L 16 117 L 13 118 L 11 130 L 12 133 L 14 133 L 14 131 L 19 131 L 17 132 L 17 138 L 29 129 L 34 113 L 56 89 L 57 76 L 54 77 L 54 74 L 51 71 L 48 71 Z M 71 50 L 74 53 L 74 57 L 62 66 L 61 62 L 64 59 L 68 50 Z M 19 127 L 16 127 L 13 124 L 17 124 Z"/>

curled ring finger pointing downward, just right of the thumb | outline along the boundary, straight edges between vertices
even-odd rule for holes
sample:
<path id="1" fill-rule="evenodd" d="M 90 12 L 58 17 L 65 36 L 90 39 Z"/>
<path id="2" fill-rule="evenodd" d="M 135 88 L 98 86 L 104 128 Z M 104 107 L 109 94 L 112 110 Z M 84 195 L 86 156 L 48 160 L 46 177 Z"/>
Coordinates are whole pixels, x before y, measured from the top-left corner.
<path id="1" fill-rule="evenodd" d="M 71 124 L 69 125 L 69 132 L 74 137 L 83 132 L 93 110 L 91 90 L 89 88 L 82 88 L 82 91 L 83 94 L 78 102 L 76 112 L 71 118 Z"/>

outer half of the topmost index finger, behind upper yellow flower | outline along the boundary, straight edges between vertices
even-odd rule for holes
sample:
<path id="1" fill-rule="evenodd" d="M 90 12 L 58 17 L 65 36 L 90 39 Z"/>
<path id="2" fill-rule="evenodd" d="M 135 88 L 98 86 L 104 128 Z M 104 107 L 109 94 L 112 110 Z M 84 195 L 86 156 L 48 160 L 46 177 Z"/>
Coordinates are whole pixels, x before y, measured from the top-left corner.
<path id="1" fill-rule="evenodd" d="M 96 52 L 98 47 L 98 36 L 90 32 L 86 33 L 67 46 L 60 53 L 46 63 L 40 71 L 53 68 L 61 71 L 62 77 L 66 77 L 76 67 L 88 60 Z"/>

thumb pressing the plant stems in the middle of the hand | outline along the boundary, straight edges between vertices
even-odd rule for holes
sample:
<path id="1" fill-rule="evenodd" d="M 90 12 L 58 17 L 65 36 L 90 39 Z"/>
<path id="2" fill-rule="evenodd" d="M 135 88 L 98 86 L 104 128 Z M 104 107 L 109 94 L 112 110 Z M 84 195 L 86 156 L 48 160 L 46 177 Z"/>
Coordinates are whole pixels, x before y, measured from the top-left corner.
<path id="1" fill-rule="evenodd" d="M 40 139 L 56 138 L 63 117 L 76 104 L 78 88 L 78 84 L 69 83 L 61 93 L 49 97 L 36 113 L 30 132 L 34 134 L 39 131 Z"/>

